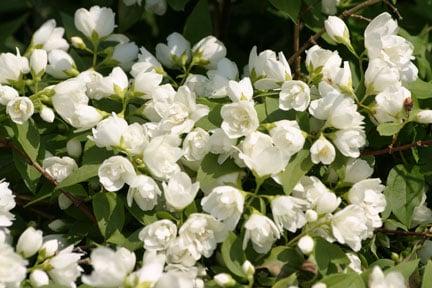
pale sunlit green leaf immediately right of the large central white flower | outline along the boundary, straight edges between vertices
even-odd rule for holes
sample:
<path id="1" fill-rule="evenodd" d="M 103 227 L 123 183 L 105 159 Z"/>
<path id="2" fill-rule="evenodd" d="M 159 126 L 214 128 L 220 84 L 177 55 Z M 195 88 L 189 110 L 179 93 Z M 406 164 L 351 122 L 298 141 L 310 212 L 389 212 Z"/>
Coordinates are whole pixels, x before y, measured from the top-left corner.
<path id="1" fill-rule="evenodd" d="M 279 174 L 285 194 L 291 194 L 300 178 L 313 167 L 309 154 L 307 149 L 299 151 L 295 158 L 288 163 L 285 170 Z"/>

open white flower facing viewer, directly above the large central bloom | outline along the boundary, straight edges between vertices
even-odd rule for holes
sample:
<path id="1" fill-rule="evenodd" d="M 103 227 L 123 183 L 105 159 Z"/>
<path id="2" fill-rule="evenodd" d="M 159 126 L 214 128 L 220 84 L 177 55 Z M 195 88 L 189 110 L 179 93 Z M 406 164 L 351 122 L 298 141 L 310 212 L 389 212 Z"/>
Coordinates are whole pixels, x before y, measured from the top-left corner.
<path id="1" fill-rule="evenodd" d="M 223 119 L 221 128 L 231 139 L 247 136 L 259 126 L 253 102 L 241 101 L 225 104 L 222 106 L 221 116 Z"/>

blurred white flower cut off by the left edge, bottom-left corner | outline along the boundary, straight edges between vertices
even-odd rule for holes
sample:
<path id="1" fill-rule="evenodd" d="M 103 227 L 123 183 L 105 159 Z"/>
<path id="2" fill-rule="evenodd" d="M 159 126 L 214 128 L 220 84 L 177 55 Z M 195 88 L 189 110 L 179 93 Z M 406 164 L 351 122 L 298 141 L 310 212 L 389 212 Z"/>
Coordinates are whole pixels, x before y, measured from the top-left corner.
<path id="1" fill-rule="evenodd" d="M 13 248 L 0 243 L 0 285 L 3 287 L 19 287 L 26 278 L 27 261 L 14 252 Z"/>

